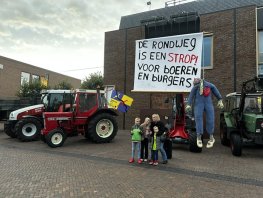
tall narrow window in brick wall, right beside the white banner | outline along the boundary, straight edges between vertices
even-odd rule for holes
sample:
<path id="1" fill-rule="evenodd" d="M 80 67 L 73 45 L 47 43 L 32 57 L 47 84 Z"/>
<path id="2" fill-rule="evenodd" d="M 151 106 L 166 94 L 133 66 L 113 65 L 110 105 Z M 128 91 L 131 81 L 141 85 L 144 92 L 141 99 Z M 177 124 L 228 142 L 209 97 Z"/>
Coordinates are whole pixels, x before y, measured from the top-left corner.
<path id="1" fill-rule="evenodd" d="M 203 40 L 202 68 L 213 68 L 213 36 L 205 36 Z"/>

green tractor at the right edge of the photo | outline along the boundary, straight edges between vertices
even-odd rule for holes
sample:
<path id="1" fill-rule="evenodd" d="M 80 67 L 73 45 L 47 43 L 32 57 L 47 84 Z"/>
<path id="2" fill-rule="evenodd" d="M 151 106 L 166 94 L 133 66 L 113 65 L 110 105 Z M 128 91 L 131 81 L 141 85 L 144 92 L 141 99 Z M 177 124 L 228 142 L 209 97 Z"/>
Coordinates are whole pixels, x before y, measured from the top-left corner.
<path id="1" fill-rule="evenodd" d="M 225 98 L 220 114 L 221 144 L 230 146 L 234 156 L 242 155 L 245 145 L 263 145 L 263 78 L 243 82 L 240 93 Z"/>

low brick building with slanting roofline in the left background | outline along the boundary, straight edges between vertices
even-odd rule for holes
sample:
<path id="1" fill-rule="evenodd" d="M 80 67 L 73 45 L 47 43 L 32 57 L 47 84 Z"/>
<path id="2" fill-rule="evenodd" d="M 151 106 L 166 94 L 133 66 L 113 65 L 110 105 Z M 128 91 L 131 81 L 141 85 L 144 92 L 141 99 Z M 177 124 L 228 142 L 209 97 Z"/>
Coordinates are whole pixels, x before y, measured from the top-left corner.
<path id="1" fill-rule="evenodd" d="M 62 81 L 70 83 L 74 88 L 79 88 L 81 84 L 80 79 L 0 56 L 1 99 L 15 97 L 23 80 L 29 82 L 33 79 L 47 80 L 51 88 Z"/>

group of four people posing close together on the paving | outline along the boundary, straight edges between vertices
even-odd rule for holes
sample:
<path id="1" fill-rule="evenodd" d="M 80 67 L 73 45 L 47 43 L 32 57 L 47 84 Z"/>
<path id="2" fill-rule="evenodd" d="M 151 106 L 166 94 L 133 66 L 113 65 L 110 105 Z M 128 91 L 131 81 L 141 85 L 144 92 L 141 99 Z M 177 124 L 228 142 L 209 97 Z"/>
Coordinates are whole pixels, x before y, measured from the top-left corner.
<path id="1" fill-rule="evenodd" d="M 164 143 L 161 141 L 161 136 L 165 133 L 164 124 L 158 114 L 152 115 L 152 121 L 148 117 L 145 118 L 142 124 L 140 118 L 136 117 L 135 124 L 131 128 L 132 155 L 129 162 L 134 162 L 134 155 L 137 150 L 137 162 L 139 164 L 149 160 L 149 164 L 156 166 L 158 165 L 158 151 L 160 151 L 163 158 L 162 163 L 167 164 L 167 155 L 163 148 Z M 150 159 L 148 159 L 149 146 L 151 150 Z"/>

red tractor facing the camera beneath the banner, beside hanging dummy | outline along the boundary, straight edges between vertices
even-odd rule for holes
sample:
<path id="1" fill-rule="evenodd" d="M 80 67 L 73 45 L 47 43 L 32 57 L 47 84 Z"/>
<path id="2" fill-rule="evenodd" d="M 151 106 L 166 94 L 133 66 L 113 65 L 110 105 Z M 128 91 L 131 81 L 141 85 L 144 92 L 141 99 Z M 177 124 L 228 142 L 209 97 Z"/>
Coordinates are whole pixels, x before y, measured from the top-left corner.
<path id="1" fill-rule="evenodd" d="M 168 139 L 164 143 L 167 157 L 172 158 L 172 144 L 188 144 L 191 152 L 202 152 L 196 144 L 195 121 L 192 113 L 185 112 L 185 97 L 177 93 L 171 100 L 172 113 L 167 118 Z M 168 103 L 169 100 L 166 100 Z"/>

